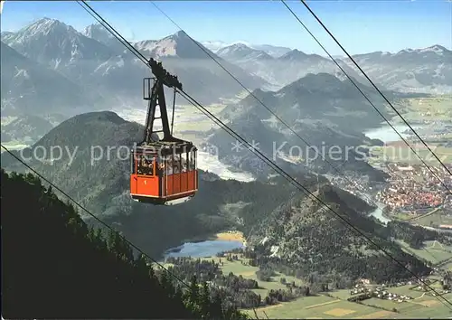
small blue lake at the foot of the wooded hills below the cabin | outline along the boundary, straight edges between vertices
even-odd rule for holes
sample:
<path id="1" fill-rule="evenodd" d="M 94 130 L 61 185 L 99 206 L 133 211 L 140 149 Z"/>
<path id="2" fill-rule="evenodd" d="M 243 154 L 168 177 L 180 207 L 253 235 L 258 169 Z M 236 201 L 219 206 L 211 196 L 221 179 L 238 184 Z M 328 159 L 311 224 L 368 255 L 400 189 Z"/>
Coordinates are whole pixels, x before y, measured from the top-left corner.
<path id="1" fill-rule="evenodd" d="M 186 242 L 182 246 L 169 249 L 165 253 L 167 257 L 212 257 L 222 251 L 230 251 L 231 249 L 243 248 L 241 241 L 231 240 L 205 240 L 201 242 Z M 172 250 L 180 249 L 177 252 Z"/>

